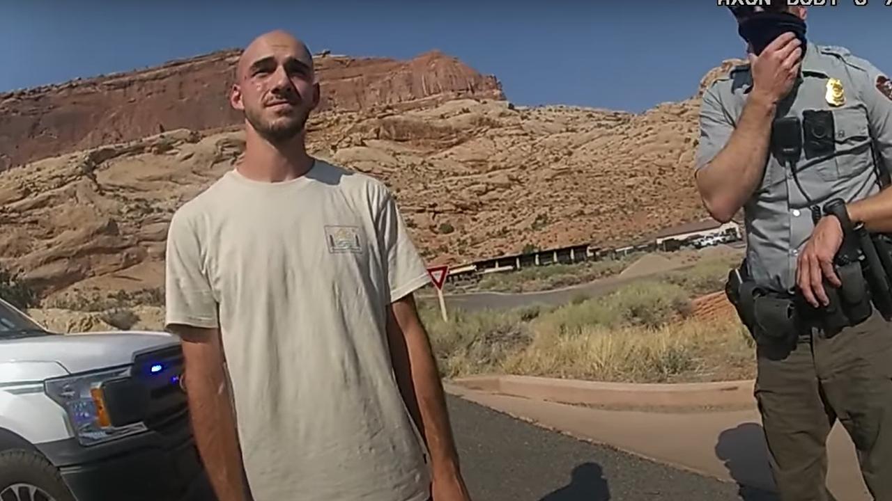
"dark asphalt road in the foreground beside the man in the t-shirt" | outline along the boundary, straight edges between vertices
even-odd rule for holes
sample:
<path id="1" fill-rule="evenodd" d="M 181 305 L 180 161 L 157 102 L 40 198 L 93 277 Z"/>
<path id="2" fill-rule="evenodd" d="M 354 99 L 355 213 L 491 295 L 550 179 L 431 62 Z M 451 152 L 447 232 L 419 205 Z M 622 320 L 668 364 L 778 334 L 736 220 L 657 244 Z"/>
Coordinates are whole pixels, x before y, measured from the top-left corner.
<path id="1" fill-rule="evenodd" d="M 448 398 L 475 501 L 777 501 Z"/>

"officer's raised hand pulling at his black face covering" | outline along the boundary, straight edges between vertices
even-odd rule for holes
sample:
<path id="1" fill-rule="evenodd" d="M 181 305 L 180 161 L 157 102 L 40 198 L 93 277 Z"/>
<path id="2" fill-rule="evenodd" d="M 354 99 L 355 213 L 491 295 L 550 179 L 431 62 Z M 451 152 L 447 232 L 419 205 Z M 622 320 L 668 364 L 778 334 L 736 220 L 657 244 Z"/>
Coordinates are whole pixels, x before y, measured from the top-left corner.
<path id="1" fill-rule="evenodd" d="M 750 53 L 753 93 L 777 103 L 793 87 L 799 74 L 799 56 L 805 47 L 792 33 L 775 38 L 758 56 Z"/>

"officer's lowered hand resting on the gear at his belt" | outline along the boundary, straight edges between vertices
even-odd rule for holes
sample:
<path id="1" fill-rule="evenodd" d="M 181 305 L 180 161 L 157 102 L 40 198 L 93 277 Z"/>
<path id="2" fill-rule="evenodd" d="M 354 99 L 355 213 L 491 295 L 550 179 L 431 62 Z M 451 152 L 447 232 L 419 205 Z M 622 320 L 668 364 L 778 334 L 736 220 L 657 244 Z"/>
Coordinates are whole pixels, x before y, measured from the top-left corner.
<path id="1" fill-rule="evenodd" d="M 830 304 L 824 291 L 823 277 L 826 276 L 834 287 L 842 285 L 833 269 L 833 257 L 842 245 L 842 236 L 839 219 L 832 216 L 822 218 L 814 226 L 811 238 L 799 254 L 796 282 L 805 300 L 815 308 Z"/>

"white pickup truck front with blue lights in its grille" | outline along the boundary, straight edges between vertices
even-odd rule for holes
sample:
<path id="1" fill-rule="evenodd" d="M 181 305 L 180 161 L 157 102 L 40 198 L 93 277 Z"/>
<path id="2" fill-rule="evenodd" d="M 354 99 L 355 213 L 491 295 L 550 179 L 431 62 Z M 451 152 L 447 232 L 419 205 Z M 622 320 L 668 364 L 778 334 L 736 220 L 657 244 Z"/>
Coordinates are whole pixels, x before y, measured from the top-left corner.
<path id="1" fill-rule="evenodd" d="M 212 500 L 179 339 L 60 335 L 0 300 L 0 500 Z"/>

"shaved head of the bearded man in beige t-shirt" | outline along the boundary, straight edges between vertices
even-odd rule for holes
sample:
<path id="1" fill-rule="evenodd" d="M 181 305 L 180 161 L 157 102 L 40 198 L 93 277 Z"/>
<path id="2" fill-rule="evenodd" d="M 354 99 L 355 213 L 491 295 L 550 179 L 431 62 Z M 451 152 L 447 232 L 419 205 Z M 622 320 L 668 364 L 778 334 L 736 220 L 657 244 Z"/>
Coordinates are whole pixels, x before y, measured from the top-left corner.
<path id="1" fill-rule="evenodd" d="M 313 56 L 297 37 L 277 29 L 245 47 L 230 102 L 260 136 L 288 142 L 303 130 L 318 98 Z"/>

